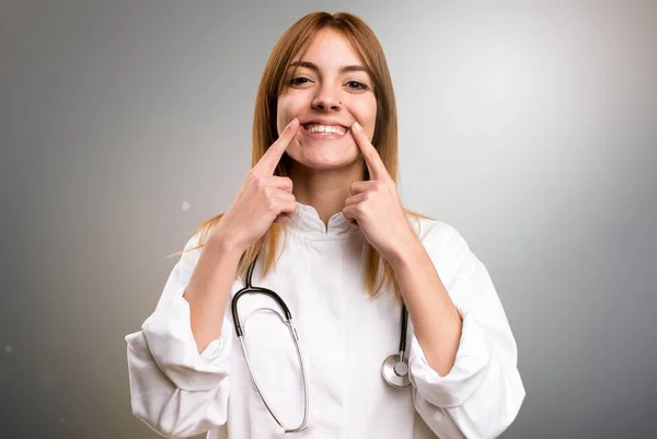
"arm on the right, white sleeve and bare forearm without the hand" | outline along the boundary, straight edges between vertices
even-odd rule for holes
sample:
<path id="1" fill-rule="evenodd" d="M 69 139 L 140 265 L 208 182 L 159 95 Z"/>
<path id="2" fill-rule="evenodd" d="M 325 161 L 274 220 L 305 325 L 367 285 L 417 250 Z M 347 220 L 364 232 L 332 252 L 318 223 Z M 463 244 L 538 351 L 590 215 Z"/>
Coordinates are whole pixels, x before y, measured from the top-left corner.
<path id="1" fill-rule="evenodd" d="M 394 264 L 414 335 L 417 412 L 442 439 L 495 438 L 525 398 L 517 346 L 484 265 L 453 228 L 437 223 Z M 428 263 L 430 262 L 430 264 Z"/>

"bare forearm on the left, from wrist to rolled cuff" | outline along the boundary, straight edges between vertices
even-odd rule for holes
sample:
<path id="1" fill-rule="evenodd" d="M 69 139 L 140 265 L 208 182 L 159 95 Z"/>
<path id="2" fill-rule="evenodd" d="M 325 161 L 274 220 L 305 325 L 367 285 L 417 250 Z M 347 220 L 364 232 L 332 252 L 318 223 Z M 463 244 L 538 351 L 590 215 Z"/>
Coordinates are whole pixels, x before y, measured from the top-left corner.
<path id="1" fill-rule="evenodd" d="M 189 303 L 192 333 L 201 353 L 221 334 L 226 307 L 242 251 L 212 236 L 201 250 L 183 297 Z"/>

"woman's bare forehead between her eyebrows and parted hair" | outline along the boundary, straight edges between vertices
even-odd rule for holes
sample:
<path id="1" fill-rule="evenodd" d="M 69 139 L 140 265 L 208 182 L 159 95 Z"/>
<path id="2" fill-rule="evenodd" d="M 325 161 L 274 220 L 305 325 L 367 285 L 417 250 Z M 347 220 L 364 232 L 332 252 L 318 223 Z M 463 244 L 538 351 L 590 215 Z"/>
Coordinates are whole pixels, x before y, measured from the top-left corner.
<path id="1" fill-rule="evenodd" d="M 324 28 L 312 38 L 306 53 L 298 54 L 293 61 L 309 61 L 320 68 L 361 65 L 351 43 L 338 31 Z"/>

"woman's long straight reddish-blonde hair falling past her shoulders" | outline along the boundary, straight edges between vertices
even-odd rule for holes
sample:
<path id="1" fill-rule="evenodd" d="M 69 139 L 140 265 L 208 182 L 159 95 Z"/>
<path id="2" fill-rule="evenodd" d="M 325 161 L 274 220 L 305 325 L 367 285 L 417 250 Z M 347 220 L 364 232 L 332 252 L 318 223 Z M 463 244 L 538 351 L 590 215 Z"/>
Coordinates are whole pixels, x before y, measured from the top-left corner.
<path id="1" fill-rule="evenodd" d="M 251 164 L 255 165 L 267 148 L 278 138 L 276 114 L 278 96 L 285 86 L 286 71 L 297 55 L 303 53 L 312 38 L 322 30 L 331 28 L 341 32 L 351 44 L 362 59 L 370 78 L 377 100 L 377 120 L 372 145 L 376 147 L 390 176 L 397 181 L 397 120 L 396 105 L 392 80 L 385 62 L 383 49 L 371 28 L 358 16 L 339 12 L 313 12 L 293 23 L 278 39 L 265 66 L 253 115 Z M 284 154 L 274 175 L 287 176 L 290 158 Z M 364 166 L 364 178 L 370 180 L 367 166 Z M 415 218 L 429 218 L 404 208 L 404 212 Z M 208 233 L 220 220 L 223 213 L 205 220 L 196 226 L 199 244 L 191 250 L 201 247 Z M 278 241 L 286 224 L 273 223 L 269 230 L 242 254 L 235 276 L 245 275 L 249 266 L 261 254 L 263 276 L 276 264 Z M 367 241 L 366 241 L 367 243 Z M 178 255 L 183 252 L 175 253 Z M 382 290 L 399 288 L 392 266 L 367 243 L 365 249 L 364 287 L 371 298 Z"/>

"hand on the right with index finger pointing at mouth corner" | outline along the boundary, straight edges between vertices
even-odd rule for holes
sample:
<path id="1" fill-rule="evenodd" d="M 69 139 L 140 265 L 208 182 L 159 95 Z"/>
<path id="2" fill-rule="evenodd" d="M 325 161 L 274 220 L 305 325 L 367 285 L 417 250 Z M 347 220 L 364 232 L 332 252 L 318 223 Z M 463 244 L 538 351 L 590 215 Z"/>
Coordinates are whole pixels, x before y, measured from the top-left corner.
<path id="1" fill-rule="evenodd" d="M 406 219 L 395 182 L 358 123 L 351 126 L 351 135 L 360 148 L 370 180 L 351 183 L 351 196 L 345 200 L 343 215 L 350 224 L 360 228 L 381 256 L 393 262 L 418 241 L 417 235 Z"/>

